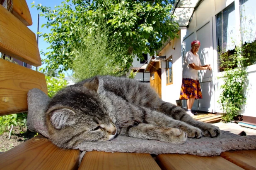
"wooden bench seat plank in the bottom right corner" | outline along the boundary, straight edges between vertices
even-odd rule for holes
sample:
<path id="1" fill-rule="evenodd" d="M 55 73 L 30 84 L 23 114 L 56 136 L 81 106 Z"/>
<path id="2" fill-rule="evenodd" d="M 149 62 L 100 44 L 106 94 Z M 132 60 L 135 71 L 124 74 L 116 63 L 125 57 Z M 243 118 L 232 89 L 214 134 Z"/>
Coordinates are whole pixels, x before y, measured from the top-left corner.
<path id="1" fill-rule="evenodd" d="M 227 151 L 220 156 L 245 170 L 256 170 L 256 150 Z"/>

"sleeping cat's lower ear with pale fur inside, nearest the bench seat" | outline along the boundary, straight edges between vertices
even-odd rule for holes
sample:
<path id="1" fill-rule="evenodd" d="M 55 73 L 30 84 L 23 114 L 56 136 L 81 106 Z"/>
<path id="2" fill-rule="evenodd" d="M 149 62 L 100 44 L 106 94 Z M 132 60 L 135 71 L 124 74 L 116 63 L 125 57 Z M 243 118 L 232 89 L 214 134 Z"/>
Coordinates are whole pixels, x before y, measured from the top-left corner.
<path id="1" fill-rule="evenodd" d="M 70 109 L 58 109 L 51 112 L 51 124 L 56 129 L 75 123 L 75 112 Z"/>

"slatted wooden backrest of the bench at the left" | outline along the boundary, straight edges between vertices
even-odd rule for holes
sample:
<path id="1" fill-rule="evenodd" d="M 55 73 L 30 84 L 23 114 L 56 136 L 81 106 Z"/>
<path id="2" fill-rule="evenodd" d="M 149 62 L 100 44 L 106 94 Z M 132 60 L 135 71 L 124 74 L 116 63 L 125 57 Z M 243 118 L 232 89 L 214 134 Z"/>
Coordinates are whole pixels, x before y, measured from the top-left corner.
<path id="1" fill-rule="evenodd" d="M 0 5 L 0 52 L 33 66 L 41 66 L 36 35 L 27 28 L 31 15 L 25 0 L 13 0 L 12 12 Z M 46 94 L 43 73 L 0 59 L 0 116 L 27 111 L 27 93 L 39 88 Z"/>

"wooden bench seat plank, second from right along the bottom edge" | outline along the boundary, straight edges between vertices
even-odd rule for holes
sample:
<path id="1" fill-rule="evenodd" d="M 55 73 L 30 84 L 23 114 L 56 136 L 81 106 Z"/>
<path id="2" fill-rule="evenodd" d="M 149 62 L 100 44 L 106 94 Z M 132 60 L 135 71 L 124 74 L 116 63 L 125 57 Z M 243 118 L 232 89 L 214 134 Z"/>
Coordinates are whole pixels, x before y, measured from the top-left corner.
<path id="1" fill-rule="evenodd" d="M 161 154 L 156 159 L 162 170 L 242 170 L 220 156 Z"/>

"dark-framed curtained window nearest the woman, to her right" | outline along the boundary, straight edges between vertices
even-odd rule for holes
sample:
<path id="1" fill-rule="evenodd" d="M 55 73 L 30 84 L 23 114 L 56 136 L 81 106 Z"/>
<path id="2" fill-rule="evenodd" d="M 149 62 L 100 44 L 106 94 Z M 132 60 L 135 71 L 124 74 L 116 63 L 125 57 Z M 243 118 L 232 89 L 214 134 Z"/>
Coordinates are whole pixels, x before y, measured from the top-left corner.
<path id="1" fill-rule="evenodd" d="M 228 56 L 234 54 L 234 38 L 236 38 L 235 22 L 235 6 L 234 2 L 232 2 L 216 15 L 217 48 L 219 54 L 226 53 Z M 220 62 L 218 62 L 218 67 L 219 71 L 224 70 L 220 68 Z"/>

